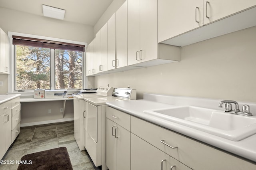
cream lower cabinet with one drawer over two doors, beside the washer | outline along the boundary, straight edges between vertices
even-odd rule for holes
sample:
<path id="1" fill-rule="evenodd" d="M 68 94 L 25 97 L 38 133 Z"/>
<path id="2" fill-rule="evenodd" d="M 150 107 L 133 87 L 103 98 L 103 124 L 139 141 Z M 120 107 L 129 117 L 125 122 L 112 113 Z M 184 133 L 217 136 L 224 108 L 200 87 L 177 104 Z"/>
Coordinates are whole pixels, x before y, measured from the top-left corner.
<path id="1" fill-rule="evenodd" d="M 109 170 L 130 170 L 130 115 L 107 107 L 106 117 L 106 165 Z"/>

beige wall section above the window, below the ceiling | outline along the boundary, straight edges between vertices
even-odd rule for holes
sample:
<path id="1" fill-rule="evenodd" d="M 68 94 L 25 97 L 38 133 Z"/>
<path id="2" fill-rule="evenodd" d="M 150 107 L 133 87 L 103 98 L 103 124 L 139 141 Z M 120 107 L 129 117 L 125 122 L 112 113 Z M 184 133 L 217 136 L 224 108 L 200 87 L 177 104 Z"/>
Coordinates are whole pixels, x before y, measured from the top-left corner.
<path id="1" fill-rule="evenodd" d="M 79 42 L 91 42 L 93 27 L 0 8 L 0 27 L 8 33 L 19 32 Z"/>

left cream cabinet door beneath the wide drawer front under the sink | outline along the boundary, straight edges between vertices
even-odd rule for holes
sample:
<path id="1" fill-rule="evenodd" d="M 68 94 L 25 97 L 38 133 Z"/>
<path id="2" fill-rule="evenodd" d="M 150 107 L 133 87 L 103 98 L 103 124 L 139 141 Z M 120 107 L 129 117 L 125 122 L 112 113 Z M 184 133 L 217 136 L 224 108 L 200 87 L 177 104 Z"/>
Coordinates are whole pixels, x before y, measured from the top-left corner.
<path id="1" fill-rule="evenodd" d="M 170 156 L 131 133 L 131 170 L 170 170 Z"/>

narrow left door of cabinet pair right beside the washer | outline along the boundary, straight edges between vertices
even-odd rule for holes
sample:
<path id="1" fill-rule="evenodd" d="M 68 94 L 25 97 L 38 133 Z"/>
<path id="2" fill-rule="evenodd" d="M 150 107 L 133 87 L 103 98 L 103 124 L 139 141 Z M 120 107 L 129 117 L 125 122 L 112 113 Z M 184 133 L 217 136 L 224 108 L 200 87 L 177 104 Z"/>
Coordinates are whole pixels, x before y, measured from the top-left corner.
<path id="1" fill-rule="evenodd" d="M 106 119 L 106 165 L 109 170 L 116 170 L 116 123 Z"/>

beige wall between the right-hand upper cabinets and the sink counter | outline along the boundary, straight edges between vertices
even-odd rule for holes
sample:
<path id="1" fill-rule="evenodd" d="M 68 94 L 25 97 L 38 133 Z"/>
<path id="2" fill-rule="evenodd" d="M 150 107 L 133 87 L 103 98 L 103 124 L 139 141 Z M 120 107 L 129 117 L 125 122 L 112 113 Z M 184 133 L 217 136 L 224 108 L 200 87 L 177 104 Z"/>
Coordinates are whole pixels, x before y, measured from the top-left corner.
<path id="1" fill-rule="evenodd" d="M 256 27 L 182 47 L 181 61 L 101 75 L 95 87 L 256 102 Z"/>

